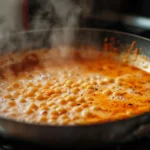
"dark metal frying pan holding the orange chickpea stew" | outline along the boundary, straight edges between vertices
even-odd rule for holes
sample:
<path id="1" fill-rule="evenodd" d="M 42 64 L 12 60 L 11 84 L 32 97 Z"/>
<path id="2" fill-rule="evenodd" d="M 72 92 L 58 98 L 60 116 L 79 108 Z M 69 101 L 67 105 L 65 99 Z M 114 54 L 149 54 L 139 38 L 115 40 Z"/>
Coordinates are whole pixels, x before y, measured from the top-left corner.
<path id="1" fill-rule="evenodd" d="M 73 34 L 71 34 L 73 33 Z M 0 38 L 1 54 L 8 51 L 31 50 L 70 45 L 94 45 L 103 49 L 105 38 L 115 38 L 115 47 L 125 51 L 133 41 L 142 48 L 141 54 L 150 57 L 150 40 L 136 35 L 103 29 L 48 29 L 22 32 Z M 69 41 L 68 41 L 69 38 Z M 150 113 L 129 119 L 94 125 L 50 126 L 28 124 L 0 118 L 0 136 L 7 139 L 25 140 L 44 145 L 66 144 L 110 144 L 134 141 L 148 137 L 150 133 Z"/>

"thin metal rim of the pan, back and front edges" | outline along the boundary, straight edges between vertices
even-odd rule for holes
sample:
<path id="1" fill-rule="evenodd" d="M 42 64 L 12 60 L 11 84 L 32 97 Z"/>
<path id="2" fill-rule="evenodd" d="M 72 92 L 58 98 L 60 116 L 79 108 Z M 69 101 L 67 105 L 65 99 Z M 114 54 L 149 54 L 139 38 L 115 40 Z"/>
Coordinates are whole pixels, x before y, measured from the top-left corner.
<path id="1" fill-rule="evenodd" d="M 20 36 L 20 35 L 26 35 L 28 33 L 38 33 L 38 32 L 47 32 L 47 31 L 53 31 L 53 30 L 63 30 L 63 29 L 67 29 L 67 30 L 76 30 L 76 31 L 94 31 L 94 32 L 108 32 L 108 33 L 117 33 L 117 34 L 121 34 L 121 35 L 126 35 L 126 36 L 130 36 L 130 37 L 135 37 L 135 38 L 139 38 L 142 40 L 146 40 L 148 42 L 150 42 L 150 39 L 136 35 L 136 34 L 132 34 L 132 33 L 127 33 L 127 32 L 122 32 L 122 31 L 118 31 L 118 30 L 109 30 L 109 29 L 103 29 L 103 28 L 48 28 L 48 29 L 39 29 L 39 30 L 29 30 L 29 31 L 21 31 L 21 32 L 17 32 L 17 33 L 12 33 L 12 34 L 8 34 L 6 36 L 2 36 L 0 37 L 0 40 L 5 39 L 5 38 L 10 38 L 12 36 Z M 82 124 L 82 125 L 50 125 L 50 124 L 40 124 L 40 123 L 30 123 L 30 122 L 26 122 L 26 121 L 19 121 L 19 120 L 15 120 L 15 119 L 11 119 L 11 118 L 7 118 L 7 117 L 2 117 L 0 116 L 0 120 L 2 121 L 8 121 L 8 122 L 12 122 L 12 123 L 18 123 L 18 124 L 22 124 L 22 125 L 28 125 L 28 126 L 36 126 L 36 127 L 47 127 L 47 128 L 85 128 L 85 127 L 99 127 L 101 125 L 110 125 L 110 124 L 116 124 L 116 123 L 122 123 L 122 122 L 126 122 L 126 121 L 130 121 L 132 119 L 136 119 L 140 116 L 144 116 L 150 114 L 150 112 L 144 112 L 142 114 L 136 115 L 136 116 L 132 116 L 130 118 L 126 118 L 126 119 L 120 119 L 120 120 L 114 120 L 114 121 L 108 121 L 108 122 L 101 122 L 101 123 L 93 123 L 93 124 Z"/>

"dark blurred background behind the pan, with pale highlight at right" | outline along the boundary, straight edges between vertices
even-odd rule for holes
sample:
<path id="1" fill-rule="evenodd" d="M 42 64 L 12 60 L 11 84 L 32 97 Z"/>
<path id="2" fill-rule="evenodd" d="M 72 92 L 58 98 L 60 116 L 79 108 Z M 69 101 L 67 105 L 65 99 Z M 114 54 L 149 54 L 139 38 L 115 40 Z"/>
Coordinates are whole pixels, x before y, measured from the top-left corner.
<path id="1" fill-rule="evenodd" d="M 44 10 L 44 2 L 29 0 L 29 24 L 33 28 L 32 21 Z M 150 38 L 150 1 L 149 0 L 74 0 L 81 6 L 80 27 L 105 28 L 124 32 L 130 32 Z M 50 9 L 53 9 L 51 6 Z M 49 17 L 47 10 L 42 11 L 43 20 L 50 23 L 57 22 L 57 15 L 53 11 L 53 17 Z"/>

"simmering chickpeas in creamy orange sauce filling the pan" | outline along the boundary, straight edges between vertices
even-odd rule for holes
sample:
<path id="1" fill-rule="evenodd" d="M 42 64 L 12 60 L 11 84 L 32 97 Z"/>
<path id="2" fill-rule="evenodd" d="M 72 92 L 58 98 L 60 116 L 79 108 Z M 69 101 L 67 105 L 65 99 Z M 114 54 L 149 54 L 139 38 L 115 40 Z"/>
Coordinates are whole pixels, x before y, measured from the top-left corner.
<path id="1" fill-rule="evenodd" d="M 74 125 L 150 110 L 150 74 L 92 50 L 38 50 L 1 58 L 0 115 Z"/>

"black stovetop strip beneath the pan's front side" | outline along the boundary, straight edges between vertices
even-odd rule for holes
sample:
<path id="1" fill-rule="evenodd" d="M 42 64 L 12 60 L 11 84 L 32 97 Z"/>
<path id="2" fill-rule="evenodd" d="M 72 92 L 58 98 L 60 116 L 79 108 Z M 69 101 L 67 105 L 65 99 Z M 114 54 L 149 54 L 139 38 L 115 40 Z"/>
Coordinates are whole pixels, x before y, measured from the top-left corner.
<path id="1" fill-rule="evenodd" d="M 75 145 L 75 146 L 41 146 L 37 144 L 29 144 L 29 143 L 20 143 L 20 142 L 11 142 L 7 140 L 0 140 L 0 150 L 49 150 L 49 149 L 69 149 L 69 150 L 93 150 L 93 149 L 111 149 L 111 150 L 149 150 L 150 149 L 150 139 L 142 139 L 139 141 L 135 141 L 127 144 L 114 144 L 114 145 Z"/>

